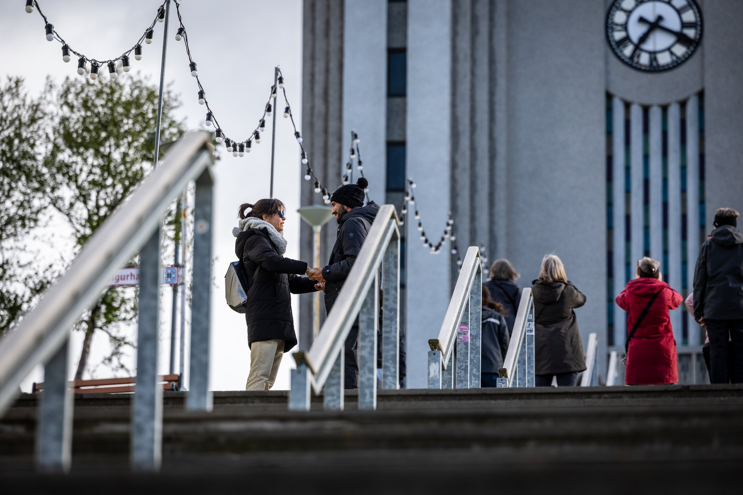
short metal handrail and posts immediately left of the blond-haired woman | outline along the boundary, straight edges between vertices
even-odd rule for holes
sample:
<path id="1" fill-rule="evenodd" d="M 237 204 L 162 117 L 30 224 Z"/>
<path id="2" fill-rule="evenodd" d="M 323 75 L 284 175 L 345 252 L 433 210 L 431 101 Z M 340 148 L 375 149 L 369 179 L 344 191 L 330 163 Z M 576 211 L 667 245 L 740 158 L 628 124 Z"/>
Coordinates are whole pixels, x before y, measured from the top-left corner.
<path id="1" fill-rule="evenodd" d="M 499 368 L 499 387 L 534 386 L 534 298 L 522 289 L 508 350 Z"/>

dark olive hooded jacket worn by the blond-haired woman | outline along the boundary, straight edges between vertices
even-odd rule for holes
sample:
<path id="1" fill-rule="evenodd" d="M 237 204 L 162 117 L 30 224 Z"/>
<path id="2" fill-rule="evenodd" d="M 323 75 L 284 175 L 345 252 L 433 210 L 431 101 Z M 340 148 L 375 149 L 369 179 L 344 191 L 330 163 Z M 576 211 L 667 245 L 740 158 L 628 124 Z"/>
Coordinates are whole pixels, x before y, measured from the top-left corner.
<path id="1" fill-rule="evenodd" d="M 568 281 L 533 281 L 534 374 L 553 375 L 585 370 L 574 308 L 585 304 L 585 295 Z"/>

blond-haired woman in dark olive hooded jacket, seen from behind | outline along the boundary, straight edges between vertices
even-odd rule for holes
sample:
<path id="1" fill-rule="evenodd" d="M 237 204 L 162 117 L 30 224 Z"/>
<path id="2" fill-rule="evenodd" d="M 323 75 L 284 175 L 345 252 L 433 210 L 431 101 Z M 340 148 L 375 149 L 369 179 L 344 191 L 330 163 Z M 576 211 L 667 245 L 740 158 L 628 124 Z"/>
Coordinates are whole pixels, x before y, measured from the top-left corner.
<path id="1" fill-rule="evenodd" d="M 555 255 L 542 259 L 539 278 L 533 281 L 534 384 L 549 387 L 553 376 L 558 387 L 574 387 L 585 370 L 583 343 L 573 309 L 585 304 L 585 295 L 565 275 Z"/>

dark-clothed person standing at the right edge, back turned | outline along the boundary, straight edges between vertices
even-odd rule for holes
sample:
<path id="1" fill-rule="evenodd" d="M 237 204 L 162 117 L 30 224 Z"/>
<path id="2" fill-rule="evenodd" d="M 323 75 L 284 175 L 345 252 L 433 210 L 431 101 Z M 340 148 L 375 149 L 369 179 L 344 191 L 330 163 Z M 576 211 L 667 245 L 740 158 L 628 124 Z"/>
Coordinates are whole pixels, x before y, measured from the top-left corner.
<path id="1" fill-rule="evenodd" d="M 699 249 L 694 270 L 694 318 L 707 325 L 710 381 L 743 382 L 743 233 L 739 213 L 715 212 L 715 229 Z M 727 376 L 728 339 L 733 347 L 733 377 Z"/>

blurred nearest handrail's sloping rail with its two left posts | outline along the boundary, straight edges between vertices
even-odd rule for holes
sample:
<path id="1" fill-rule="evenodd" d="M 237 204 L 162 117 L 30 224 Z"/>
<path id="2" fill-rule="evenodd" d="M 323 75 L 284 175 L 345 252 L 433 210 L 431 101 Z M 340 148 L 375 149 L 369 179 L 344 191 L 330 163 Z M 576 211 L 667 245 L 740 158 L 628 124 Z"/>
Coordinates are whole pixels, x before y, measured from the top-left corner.
<path id="1" fill-rule="evenodd" d="M 65 362 L 70 329 L 77 318 L 106 288 L 111 275 L 140 251 L 140 301 L 137 353 L 137 385 L 132 415 L 132 465 L 152 471 L 158 468 L 160 449 L 161 387 L 157 387 L 157 318 L 160 285 L 160 223 L 172 200 L 190 180 L 207 182 L 214 157 L 210 137 L 191 132 L 170 148 L 162 165 L 153 170 L 131 197 L 82 246 L 68 271 L 43 295 L 36 308 L 12 331 L 0 338 L 0 416 L 19 393 L 19 384 L 36 364 L 46 364 L 42 393 L 37 462 L 40 468 L 65 471 L 71 442 L 70 392 Z M 196 208 L 200 205 L 197 200 Z M 211 207 L 210 207 L 211 208 Z M 208 226 L 208 224 L 207 224 Z M 198 228 L 197 228 L 198 229 Z M 211 230 L 207 229 L 209 244 Z M 199 263 L 211 260 L 203 256 Z M 210 283 L 205 283 L 208 287 Z M 207 304 L 208 306 L 208 304 Z M 196 314 L 196 313 L 195 313 Z M 155 340 L 152 341 L 154 335 Z M 149 340 L 148 340 L 149 339 Z M 208 353 L 207 353 L 208 356 Z M 60 373 L 61 378 L 60 378 Z M 202 370 L 197 372 L 203 373 Z M 194 373 L 194 374 L 197 374 Z M 45 411 L 55 411 L 49 415 Z M 54 421 L 54 424 L 48 424 Z M 141 448 L 140 448 L 141 447 Z"/>

